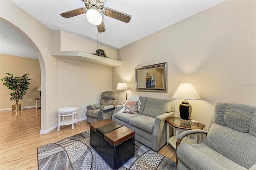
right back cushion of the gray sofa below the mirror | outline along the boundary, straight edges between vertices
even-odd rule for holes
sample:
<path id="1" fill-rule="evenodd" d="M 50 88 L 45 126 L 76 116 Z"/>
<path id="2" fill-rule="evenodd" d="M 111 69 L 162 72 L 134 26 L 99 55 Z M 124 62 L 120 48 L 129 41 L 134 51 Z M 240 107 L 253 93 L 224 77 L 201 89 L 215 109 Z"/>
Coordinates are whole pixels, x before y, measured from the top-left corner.
<path id="1" fill-rule="evenodd" d="M 168 99 L 156 99 L 149 97 L 142 115 L 156 118 L 163 113 L 170 112 L 172 101 Z"/>

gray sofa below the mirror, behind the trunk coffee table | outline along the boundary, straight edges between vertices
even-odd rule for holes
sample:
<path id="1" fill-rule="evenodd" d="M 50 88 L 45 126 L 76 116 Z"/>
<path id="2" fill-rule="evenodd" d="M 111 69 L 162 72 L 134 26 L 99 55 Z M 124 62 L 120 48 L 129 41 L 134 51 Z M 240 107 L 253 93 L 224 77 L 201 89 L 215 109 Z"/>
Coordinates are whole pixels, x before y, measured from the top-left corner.
<path id="1" fill-rule="evenodd" d="M 174 116 L 172 101 L 140 96 L 140 111 L 137 114 L 116 113 L 124 105 L 115 107 L 112 121 L 135 131 L 135 140 L 158 151 L 166 144 L 165 119 Z"/>

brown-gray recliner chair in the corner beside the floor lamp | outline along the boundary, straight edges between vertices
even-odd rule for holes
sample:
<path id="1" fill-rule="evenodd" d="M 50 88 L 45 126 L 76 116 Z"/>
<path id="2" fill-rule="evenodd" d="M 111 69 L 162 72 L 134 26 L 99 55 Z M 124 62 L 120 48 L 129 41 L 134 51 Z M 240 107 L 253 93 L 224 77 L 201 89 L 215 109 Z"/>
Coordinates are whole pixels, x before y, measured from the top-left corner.
<path id="1" fill-rule="evenodd" d="M 112 119 L 116 105 L 117 93 L 113 91 L 104 91 L 101 94 L 99 104 L 87 106 L 87 123 L 94 123 L 104 119 Z"/>

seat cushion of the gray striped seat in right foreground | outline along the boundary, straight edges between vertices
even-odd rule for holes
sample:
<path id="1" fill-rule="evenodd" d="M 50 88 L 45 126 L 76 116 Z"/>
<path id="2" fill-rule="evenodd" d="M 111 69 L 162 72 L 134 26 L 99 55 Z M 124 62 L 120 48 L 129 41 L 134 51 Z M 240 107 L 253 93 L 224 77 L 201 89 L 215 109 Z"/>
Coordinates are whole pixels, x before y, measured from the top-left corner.
<path id="1" fill-rule="evenodd" d="M 239 154 L 239 153 L 238 153 Z M 246 168 L 212 150 L 206 144 L 181 143 L 177 149 L 178 158 L 190 169 L 196 170 L 246 170 Z M 179 160 L 179 162 L 180 162 Z M 178 168 L 179 168 L 178 162 Z"/>

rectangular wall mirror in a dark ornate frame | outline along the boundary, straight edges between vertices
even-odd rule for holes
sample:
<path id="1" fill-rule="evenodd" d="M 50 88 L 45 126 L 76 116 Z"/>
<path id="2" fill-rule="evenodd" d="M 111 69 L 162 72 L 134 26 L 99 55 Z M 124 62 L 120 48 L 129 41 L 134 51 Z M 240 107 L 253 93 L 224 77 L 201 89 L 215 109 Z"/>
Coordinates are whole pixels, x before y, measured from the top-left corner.
<path id="1" fill-rule="evenodd" d="M 136 68 L 136 91 L 167 92 L 167 62 Z"/>

